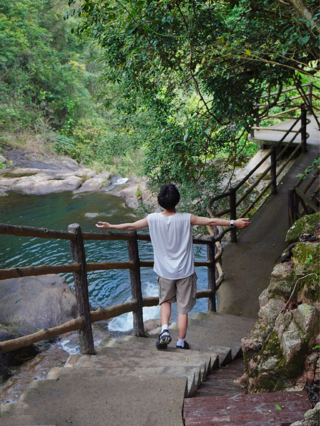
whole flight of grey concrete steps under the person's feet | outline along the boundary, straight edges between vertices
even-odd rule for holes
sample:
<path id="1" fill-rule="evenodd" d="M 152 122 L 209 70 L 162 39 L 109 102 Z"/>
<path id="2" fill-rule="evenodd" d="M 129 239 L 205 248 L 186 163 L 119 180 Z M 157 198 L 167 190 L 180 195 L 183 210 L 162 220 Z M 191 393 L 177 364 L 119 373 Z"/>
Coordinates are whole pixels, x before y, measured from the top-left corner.
<path id="1" fill-rule="evenodd" d="M 190 350 L 171 344 L 155 348 L 149 338 L 105 339 L 96 355 L 72 355 L 46 380 L 34 381 L 16 404 L 1 407 L 0 425 L 141 426 L 183 425 L 185 397 L 206 376 L 241 354 L 240 339 L 255 320 L 232 315 L 197 314 L 189 320 Z"/>

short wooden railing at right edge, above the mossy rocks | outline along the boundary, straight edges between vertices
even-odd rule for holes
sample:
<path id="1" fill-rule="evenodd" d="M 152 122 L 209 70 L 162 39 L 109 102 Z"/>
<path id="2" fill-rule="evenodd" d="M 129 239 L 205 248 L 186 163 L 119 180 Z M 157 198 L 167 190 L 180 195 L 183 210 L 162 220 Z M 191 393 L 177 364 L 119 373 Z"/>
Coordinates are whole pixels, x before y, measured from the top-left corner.
<path id="1" fill-rule="evenodd" d="M 289 227 L 299 217 L 319 212 L 319 159 L 314 161 L 305 175 L 301 176 L 296 185 L 288 190 Z M 314 170 L 316 168 L 316 170 Z M 314 184 L 315 182 L 315 184 Z"/>

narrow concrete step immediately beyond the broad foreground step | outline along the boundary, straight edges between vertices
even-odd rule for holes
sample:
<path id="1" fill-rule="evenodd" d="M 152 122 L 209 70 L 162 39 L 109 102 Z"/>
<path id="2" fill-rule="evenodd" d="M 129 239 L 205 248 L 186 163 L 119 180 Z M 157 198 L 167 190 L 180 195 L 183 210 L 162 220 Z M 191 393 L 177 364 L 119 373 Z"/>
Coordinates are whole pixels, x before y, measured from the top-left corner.
<path id="1" fill-rule="evenodd" d="M 199 388 L 203 382 L 203 371 L 197 366 L 175 366 L 175 367 L 159 367 L 154 365 L 153 367 L 129 367 L 129 368 L 82 368 L 82 367 L 53 367 L 46 379 L 66 379 L 73 380 L 73 377 L 105 377 L 105 378 L 117 378 L 122 380 L 122 377 L 131 377 L 134 380 L 135 377 L 147 378 L 147 377 L 168 377 L 168 378 L 186 378 L 187 389 L 185 398 L 191 398 L 195 391 Z M 106 382 L 107 383 L 107 382 Z"/>

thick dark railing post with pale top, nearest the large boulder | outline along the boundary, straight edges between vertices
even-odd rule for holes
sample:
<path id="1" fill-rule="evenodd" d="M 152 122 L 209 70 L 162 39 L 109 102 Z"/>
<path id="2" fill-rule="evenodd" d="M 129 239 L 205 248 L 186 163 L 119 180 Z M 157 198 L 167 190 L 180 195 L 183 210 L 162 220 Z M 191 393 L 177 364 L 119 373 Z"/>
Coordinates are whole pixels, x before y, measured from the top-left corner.
<path id="1" fill-rule="evenodd" d="M 80 352 L 83 355 L 94 355 L 88 283 L 86 277 L 86 260 L 80 225 L 78 223 L 72 223 L 68 226 L 68 232 L 75 234 L 75 240 L 70 241 L 72 263 L 80 264 L 80 271 L 73 272 L 77 312 L 84 321 L 83 329 L 79 330 Z"/>

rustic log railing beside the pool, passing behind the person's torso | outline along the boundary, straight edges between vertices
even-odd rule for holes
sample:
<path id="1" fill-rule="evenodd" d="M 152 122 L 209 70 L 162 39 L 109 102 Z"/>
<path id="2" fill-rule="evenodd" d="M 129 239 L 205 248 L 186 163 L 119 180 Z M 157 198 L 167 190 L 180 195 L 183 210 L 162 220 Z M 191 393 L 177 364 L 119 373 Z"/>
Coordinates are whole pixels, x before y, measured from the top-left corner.
<path id="1" fill-rule="evenodd" d="M 127 233 L 92 233 L 81 232 L 80 225 L 71 224 L 68 232 L 48 230 L 43 228 L 33 228 L 28 226 L 14 226 L 0 224 L 0 234 L 8 234 L 23 237 L 38 237 L 68 240 L 70 244 L 72 263 L 66 265 L 40 265 L 14 267 L 0 269 L 0 280 L 7 278 L 28 277 L 34 275 L 58 274 L 73 272 L 75 297 L 77 304 L 78 318 L 70 320 L 64 324 L 49 329 L 43 329 L 36 333 L 19 337 L 17 339 L 0 342 L 1 353 L 13 351 L 32 343 L 39 342 L 63 333 L 79 330 L 80 352 L 81 354 L 94 354 L 93 337 L 91 323 L 102 321 L 118 315 L 133 313 L 133 330 L 136 336 L 145 336 L 143 327 L 142 307 L 158 305 L 158 297 L 142 298 L 140 268 L 153 267 L 153 262 L 139 259 L 138 241 L 150 241 L 149 235 L 137 234 L 136 231 Z M 207 261 L 194 262 L 194 266 L 207 267 L 208 288 L 196 293 L 196 298 L 208 298 L 208 310 L 215 311 L 215 291 L 221 284 L 223 274 L 220 267 L 222 246 L 218 244 L 223 237 L 223 230 L 216 232 L 215 236 L 208 239 L 193 238 L 193 244 L 206 245 Z M 90 262 L 86 263 L 84 240 L 123 240 L 127 242 L 128 262 Z M 218 244 L 215 247 L 215 244 Z M 217 266 L 215 266 L 217 265 Z M 114 305 L 108 308 L 99 307 L 95 311 L 89 309 L 87 272 L 96 270 L 128 269 L 130 274 L 132 301 Z M 216 272 L 217 271 L 217 272 Z M 0 282 L 1 285 L 1 282 Z M 35 313 L 36 315 L 36 313 Z"/>

